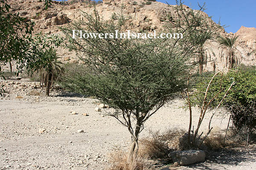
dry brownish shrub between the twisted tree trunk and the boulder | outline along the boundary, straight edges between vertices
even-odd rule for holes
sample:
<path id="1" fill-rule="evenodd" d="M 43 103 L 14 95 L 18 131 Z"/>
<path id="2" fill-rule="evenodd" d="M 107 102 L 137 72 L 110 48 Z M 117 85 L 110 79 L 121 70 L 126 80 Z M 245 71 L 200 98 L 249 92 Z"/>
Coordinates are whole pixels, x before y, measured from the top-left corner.
<path id="1" fill-rule="evenodd" d="M 170 151 L 183 148 L 184 144 L 180 144 L 179 139 L 184 133 L 186 133 L 185 130 L 177 128 L 166 130 L 163 133 L 150 131 L 150 137 L 140 140 L 139 153 L 153 159 L 168 157 Z"/>

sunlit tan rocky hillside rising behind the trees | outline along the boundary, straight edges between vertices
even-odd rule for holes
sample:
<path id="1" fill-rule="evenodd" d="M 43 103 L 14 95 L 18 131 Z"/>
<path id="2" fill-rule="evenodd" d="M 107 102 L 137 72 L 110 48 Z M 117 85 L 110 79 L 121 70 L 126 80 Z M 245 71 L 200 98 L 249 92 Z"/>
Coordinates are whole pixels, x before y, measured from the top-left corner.
<path id="1" fill-rule="evenodd" d="M 46 34 L 61 34 L 59 27 L 73 22 L 74 20 L 83 20 L 81 11 L 87 13 L 93 12 L 93 4 L 90 0 L 68 0 L 65 3 L 54 1 L 48 10 L 44 9 L 44 2 L 40 0 L 9 0 L 12 11 L 20 13 L 27 20 L 35 22 L 35 33 L 42 31 Z M 186 8 L 189 8 L 186 6 Z M 103 0 L 103 3 L 96 4 L 99 15 L 104 20 L 113 19 L 119 14 L 129 16 L 127 29 L 133 31 L 147 30 L 153 31 L 162 28 L 166 14 L 170 11 L 175 15 L 175 11 L 164 3 L 152 2 L 146 0 Z M 205 17 L 208 17 L 205 14 Z M 210 20 L 210 18 L 209 18 Z M 209 21 L 212 22 L 212 21 Z M 250 52 L 256 49 L 256 28 L 246 28 L 241 26 L 237 33 L 227 33 L 220 29 L 222 36 L 232 37 L 233 34 L 239 35 L 237 48 L 242 54 L 242 63 L 246 65 L 256 65 L 256 56 L 250 55 Z M 212 71 L 213 62 L 217 70 L 225 67 L 225 61 L 219 58 L 218 42 L 210 42 L 210 47 L 215 52 L 215 57 L 208 62 L 207 71 Z M 65 49 L 58 51 L 63 62 L 77 62 L 75 54 Z M 8 69 L 6 67 L 6 69 Z"/>

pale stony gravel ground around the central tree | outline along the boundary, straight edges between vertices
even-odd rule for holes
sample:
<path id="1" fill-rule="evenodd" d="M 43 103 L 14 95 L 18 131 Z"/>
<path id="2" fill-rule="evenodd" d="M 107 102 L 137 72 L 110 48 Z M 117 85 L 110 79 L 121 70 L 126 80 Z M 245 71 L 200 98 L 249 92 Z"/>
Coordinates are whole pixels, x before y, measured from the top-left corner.
<path id="1" fill-rule="evenodd" d="M 127 149 L 131 142 L 125 127 L 114 118 L 101 114 L 108 109 L 94 111 L 97 107 L 95 99 L 70 94 L 47 97 L 26 93 L 18 98 L 13 91 L 0 97 L 0 170 L 103 170 L 109 166 L 108 154 L 116 149 Z M 146 123 L 140 137 L 147 136 L 150 129 L 187 129 L 189 113 L 181 108 L 182 103 L 181 99 L 176 99 L 157 111 Z M 72 115 L 74 111 L 78 114 Z M 198 110 L 193 108 L 195 126 L 198 116 Z M 209 117 L 210 114 L 207 114 L 201 125 L 202 130 L 207 129 Z M 227 122 L 227 117 L 215 116 L 212 126 L 225 129 Z M 230 151 L 229 154 L 218 153 L 222 154 L 220 157 L 216 153 L 206 162 L 189 167 L 157 169 L 254 169 L 255 148 L 251 146 Z"/>

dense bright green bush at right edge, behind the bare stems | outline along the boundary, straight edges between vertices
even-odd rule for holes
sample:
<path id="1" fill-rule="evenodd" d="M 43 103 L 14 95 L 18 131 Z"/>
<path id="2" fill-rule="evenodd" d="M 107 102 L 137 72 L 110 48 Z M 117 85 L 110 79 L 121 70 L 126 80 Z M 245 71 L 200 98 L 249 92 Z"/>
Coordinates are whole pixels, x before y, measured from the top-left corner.
<path id="1" fill-rule="evenodd" d="M 193 105 L 199 105 L 203 101 L 204 93 L 207 88 L 209 78 L 202 78 L 197 84 L 197 91 L 192 95 Z M 256 73 L 255 71 L 238 70 L 230 71 L 221 78 L 217 76 L 210 86 L 207 98 L 215 96 L 219 89 L 223 89 L 221 94 L 215 98 L 210 106 L 215 108 L 224 96 L 230 84 L 235 82 L 229 94 L 224 99 L 222 106 L 232 115 L 233 123 L 236 128 L 256 125 Z"/>

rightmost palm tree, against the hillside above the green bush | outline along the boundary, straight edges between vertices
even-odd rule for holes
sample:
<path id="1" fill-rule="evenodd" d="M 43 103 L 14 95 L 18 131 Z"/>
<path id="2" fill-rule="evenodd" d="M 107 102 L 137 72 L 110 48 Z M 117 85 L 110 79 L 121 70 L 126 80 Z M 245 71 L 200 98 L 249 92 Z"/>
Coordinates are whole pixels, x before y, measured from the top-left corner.
<path id="1" fill-rule="evenodd" d="M 220 57 L 226 58 L 226 67 L 228 69 L 238 67 L 241 63 L 241 52 L 236 48 L 235 43 L 239 36 L 234 36 L 231 38 L 220 37 L 220 46 L 221 52 Z"/>

